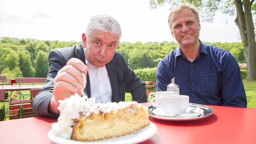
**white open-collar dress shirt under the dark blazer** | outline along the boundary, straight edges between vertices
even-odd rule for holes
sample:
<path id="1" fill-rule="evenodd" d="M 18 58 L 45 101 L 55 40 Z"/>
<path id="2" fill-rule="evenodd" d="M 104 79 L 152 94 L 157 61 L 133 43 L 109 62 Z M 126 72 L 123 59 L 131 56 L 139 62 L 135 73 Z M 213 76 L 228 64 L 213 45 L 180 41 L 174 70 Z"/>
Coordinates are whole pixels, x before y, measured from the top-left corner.
<path id="1" fill-rule="evenodd" d="M 96 103 L 107 103 L 112 99 L 112 88 L 106 66 L 94 67 L 85 58 L 90 78 L 91 97 L 96 98 Z"/>

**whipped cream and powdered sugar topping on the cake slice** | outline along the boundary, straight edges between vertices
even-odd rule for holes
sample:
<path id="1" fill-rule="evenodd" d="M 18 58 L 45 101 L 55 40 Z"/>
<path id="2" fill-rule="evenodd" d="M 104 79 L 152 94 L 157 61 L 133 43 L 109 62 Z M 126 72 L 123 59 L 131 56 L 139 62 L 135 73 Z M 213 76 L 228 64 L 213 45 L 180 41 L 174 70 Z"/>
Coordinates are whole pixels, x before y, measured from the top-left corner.
<path id="1" fill-rule="evenodd" d="M 113 111 L 114 113 L 118 109 L 124 109 L 128 105 L 138 104 L 136 101 L 120 101 L 119 103 L 108 102 L 108 103 L 95 103 L 95 97 L 89 98 L 87 96 L 79 96 L 77 93 L 65 98 L 64 100 L 58 101 L 60 116 L 57 123 L 52 123 L 53 135 L 63 137 L 66 139 L 71 139 L 73 132 L 73 122 L 75 119 L 80 117 L 82 113 L 85 117 L 91 116 L 92 114 L 96 115 L 97 113 L 109 113 Z M 142 104 L 138 104 L 137 107 L 144 107 Z M 136 109 L 127 109 L 131 113 L 137 113 Z"/>

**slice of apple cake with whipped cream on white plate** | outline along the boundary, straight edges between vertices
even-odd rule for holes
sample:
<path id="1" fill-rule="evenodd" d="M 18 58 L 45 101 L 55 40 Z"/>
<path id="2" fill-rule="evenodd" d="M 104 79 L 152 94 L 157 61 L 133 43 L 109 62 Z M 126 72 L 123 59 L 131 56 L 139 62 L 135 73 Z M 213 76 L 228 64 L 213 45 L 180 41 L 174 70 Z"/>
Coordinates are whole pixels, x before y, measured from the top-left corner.
<path id="1" fill-rule="evenodd" d="M 74 109 L 75 108 L 75 109 Z M 148 108 L 136 101 L 95 103 L 75 94 L 60 101 L 60 117 L 52 124 L 55 135 L 95 141 L 135 133 L 149 125 Z"/>

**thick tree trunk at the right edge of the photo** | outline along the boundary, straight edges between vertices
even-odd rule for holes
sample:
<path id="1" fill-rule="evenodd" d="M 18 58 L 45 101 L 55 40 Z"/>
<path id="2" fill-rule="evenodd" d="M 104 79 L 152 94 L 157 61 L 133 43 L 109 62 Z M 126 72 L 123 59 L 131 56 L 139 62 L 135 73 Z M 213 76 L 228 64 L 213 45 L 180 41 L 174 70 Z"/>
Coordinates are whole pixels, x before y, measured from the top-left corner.
<path id="1" fill-rule="evenodd" d="M 237 17 L 235 23 L 239 28 L 247 63 L 247 80 L 256 80 L 256 42 L 249 0 L 234 0 Z M 244 7 L 244 11 L 243 11 Z"/>

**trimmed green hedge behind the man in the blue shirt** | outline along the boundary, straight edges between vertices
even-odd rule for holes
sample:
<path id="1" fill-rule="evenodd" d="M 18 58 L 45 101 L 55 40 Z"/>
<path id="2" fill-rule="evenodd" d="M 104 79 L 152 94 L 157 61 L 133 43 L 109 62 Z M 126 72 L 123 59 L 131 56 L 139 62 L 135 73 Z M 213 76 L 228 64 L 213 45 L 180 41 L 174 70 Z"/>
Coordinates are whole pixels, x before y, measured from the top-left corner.
<path id="1" fill-rule="evenodd" d="M 247 70 L 240 70 L 242 79 L 245 80 L 247 76 Z M 134 73 L 138 75 L 142 81 L 152 81 L 156 83 L 156 68 L 144 68 L 144 69 L 135 69 Z"/>

